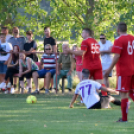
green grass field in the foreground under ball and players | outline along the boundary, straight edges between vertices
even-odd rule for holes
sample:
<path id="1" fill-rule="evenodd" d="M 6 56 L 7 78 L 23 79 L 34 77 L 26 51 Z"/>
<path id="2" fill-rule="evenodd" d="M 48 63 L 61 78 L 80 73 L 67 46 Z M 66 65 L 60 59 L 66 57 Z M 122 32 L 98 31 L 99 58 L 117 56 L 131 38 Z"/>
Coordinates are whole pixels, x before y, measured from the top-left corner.
<path id="1" fill-rule="evenodd" d="M 134 103 L 127 123 L 116 123 L 120 107 L 87 110 L 75 103 L 73 94 L 37 95 L 36 104 L 27 104 L 28 95 L 0 94 L 0 134 L 133 134 Z M 78 101 L 80 98 L 78 99 Z"/>

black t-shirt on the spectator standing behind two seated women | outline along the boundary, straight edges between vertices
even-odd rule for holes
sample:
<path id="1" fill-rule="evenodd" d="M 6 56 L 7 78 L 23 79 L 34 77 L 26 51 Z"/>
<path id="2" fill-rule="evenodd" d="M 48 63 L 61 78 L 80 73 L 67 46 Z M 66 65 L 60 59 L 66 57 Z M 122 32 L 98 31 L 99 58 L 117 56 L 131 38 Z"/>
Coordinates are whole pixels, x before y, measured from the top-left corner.
<path id="1" fill-rule="evenodd" d="M 30 43 L 27 42 L 24 44 L 25 51 L 29 51 L 31 48 L 34 48 L 34 50 L 37 50 L 37 44 L 34 40 Z M 31 59 L 34 60 L 34 54 L 27 55 L 27 57 L 30 57 Z"/>

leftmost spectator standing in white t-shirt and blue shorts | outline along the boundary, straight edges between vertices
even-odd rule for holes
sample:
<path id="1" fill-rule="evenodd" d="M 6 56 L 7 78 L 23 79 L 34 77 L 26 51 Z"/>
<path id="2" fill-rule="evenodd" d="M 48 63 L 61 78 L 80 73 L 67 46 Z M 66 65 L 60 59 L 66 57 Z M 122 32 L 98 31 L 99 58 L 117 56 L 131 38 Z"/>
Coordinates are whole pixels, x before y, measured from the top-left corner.
<path id="1" fill-rule="evenodd" d="M 12 50 L 12 45 L 8 42 L 6 42 L 6 34 L 5 33 L 0 33 L 0 39 L 1 39 L 1 44 L 0 44 L 0 83 L 3 82 L 5 78 L 5 74 L 7 71 L 7 60 L 10 56 L 10 50 Z"/>

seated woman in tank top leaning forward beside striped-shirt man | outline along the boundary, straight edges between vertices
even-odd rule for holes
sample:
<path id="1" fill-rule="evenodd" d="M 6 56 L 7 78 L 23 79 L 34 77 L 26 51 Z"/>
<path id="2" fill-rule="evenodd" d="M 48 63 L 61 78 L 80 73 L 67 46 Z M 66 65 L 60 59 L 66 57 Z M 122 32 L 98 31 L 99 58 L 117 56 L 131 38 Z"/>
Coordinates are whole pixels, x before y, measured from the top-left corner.
<path id="1" fill-rule="evenodd" d="M 20 80 L 20 86 L 21 86 L 21 93 L 24 93 L 24 77 L 27 78 L 27 83 L 28 83 L 28 93 L 31 93 L 31 77 L 33 72 L 38 70 L 38 66 L 34 61 L 26 57 L 25 51 L 21 51 L 19 55 L 19 80 Z"/>

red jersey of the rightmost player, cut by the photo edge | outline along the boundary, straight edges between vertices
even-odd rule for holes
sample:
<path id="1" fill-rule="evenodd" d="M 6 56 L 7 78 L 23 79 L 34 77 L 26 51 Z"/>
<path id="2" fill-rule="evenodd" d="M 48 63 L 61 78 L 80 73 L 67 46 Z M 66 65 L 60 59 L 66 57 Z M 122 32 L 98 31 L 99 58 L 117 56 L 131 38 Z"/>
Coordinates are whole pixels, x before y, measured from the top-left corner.
<path id="1" fill-rule="evenodd" d="M 116 64 L 117 76 L 132 76 L 134 74 L 134 37 L 124 34 L 114 41 L 113 53 L 120 54 Z"/>

